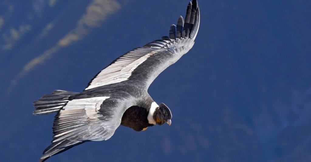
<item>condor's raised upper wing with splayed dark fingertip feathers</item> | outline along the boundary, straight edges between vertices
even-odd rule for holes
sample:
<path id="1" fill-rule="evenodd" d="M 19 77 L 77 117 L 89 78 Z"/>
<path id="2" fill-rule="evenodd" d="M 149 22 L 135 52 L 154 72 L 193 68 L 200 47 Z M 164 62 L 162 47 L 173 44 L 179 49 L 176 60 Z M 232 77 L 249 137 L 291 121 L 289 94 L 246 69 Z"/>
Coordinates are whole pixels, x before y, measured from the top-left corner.
<path id="1" fill-rule="evenodd" d="M 133 80 L 148 88 L 154 79 L 168 66 L 174 64 L 194 44 L 200 25 L 200 11 L 197 0 L 189 2 L 185 20 L 179 17 L 172 25 L 169 37 L 162 37 L 125 53 L 101 70 L 85 90 Z"/>

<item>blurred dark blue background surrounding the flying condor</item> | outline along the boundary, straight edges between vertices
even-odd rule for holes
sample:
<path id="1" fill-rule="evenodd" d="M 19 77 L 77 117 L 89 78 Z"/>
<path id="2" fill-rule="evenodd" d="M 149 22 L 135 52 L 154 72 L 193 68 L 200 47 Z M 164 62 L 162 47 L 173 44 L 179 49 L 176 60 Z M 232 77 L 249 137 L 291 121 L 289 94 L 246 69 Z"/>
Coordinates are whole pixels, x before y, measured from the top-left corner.
<path id="1" fill-rule="evenodd" d="M 52 2 L 0 2 L 1 161 L 36 161 L 50 144 L 54 115 L 32 115 L 32 101 L 54 89 L 81 92 L 118 56 L 168 35 L 188 3 L 117 1 L 97 27 L 55 50 L 92 1 Z M 87 142 L 49 161 L 311 160 L 311 2 L 199 5 L 193 49 L 149 88 L 172 110 L 172 125 L 144 132 L 120 126 L 108 141 Z"/>

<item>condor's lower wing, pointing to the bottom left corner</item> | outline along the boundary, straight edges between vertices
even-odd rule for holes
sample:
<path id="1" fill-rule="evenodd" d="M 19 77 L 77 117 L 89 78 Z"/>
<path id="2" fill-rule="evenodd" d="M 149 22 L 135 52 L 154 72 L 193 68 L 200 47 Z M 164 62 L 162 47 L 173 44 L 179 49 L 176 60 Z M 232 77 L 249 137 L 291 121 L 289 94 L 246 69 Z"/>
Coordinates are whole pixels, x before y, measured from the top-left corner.
<path id="1" fill-rule="evenodd" d="M 53 123 L 53 141 L 41 161 L 86 141 L 109 139 L 121 123 L 126 104 L 115 97 L 78 98 L 58 111 Z M 101 111 L 105 111 L 103 114 Z"/>

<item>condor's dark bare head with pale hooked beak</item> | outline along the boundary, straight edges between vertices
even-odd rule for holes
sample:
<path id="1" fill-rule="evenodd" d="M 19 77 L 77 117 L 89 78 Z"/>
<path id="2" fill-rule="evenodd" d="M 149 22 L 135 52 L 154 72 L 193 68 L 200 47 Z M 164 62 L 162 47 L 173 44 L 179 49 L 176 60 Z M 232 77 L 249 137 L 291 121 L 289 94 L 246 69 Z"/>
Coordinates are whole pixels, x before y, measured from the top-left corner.
<path id="1" fill-rule="evenodd" d="M 164 123 L 167 123 L 171 125 L 172 121 L 172 113 L 171 110 L 164 104 L 161 103 L 158 108 L 156 108 L 153 119 L 156 121 L 156 124 L 162 125 Z"/>

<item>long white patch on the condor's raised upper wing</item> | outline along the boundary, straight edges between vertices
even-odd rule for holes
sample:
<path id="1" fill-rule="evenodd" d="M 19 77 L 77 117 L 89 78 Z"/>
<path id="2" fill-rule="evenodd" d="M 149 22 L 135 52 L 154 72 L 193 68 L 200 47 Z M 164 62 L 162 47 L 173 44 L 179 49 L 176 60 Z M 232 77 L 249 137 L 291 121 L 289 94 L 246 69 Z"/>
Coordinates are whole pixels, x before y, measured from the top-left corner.
<path id="1" fill-rule="evenodd" d="M 101 70 L 85 90 L 128 80 L 137 66 L 146 61 L 150 56 L 162 51 L 167 51 L 167 49 L 137 48 L 124 54 L 113 64 Z"/>

